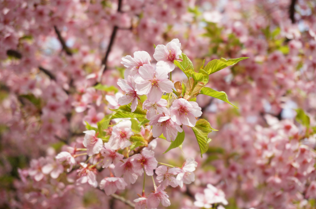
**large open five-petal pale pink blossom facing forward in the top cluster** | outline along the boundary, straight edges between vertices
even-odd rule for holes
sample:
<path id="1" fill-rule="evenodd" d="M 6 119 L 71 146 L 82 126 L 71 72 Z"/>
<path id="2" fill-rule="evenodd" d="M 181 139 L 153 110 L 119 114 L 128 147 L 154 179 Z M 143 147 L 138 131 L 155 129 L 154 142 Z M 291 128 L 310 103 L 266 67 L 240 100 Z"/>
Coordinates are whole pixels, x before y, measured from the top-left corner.
<path id="1" fill-rule="evenodd" d="M 173 83 L 166 71 L 155 71 L 153 66 L 144 64 L 139 67 L 139 74 L 140 77 L 135 80 L 137 94 L 146 94 L 150 102 L 159 101 L 162 93 L 172 92 Z"/>

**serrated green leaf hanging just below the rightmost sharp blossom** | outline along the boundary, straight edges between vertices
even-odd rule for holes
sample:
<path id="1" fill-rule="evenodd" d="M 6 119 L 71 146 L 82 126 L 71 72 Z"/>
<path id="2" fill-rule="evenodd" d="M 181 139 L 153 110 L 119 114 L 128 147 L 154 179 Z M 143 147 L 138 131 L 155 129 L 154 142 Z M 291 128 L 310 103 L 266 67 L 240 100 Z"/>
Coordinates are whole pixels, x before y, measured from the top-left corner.
<path id="1" fill-rule="evenodd" d="M 212 139 L 208 138 L 207 135 L 212 132 L 212 127 L 208 121 L 205 119 L 200 119 L 192 127 L 192 130 L 197 138 L 197 143 L 200 147 L 201 157 L 208 150 L 209 143 Z"/>

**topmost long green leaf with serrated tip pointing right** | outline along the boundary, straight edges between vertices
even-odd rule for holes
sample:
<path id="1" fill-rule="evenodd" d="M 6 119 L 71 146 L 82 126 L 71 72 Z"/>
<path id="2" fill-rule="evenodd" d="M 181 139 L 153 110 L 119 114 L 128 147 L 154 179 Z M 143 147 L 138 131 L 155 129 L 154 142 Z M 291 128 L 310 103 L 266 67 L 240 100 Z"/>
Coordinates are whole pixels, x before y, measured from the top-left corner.
<path id="1" fill-rule="evenodd" d="M 207 63 L 207 65 L 204 67 L 204 71 L 207 72 L 207 74 L 212 74 L 215 73 L 217 71 L 220 71 L 222 69 L 224 69 L 227 66 L 232 66 L 237 64 L 239 61 L 244 60 L 244 59 L 248 59 L 249 57 L 240 57 L 240 58 L 236 58 L 236 59 L 213 59 L 211 60 L 209 63 Z"/>

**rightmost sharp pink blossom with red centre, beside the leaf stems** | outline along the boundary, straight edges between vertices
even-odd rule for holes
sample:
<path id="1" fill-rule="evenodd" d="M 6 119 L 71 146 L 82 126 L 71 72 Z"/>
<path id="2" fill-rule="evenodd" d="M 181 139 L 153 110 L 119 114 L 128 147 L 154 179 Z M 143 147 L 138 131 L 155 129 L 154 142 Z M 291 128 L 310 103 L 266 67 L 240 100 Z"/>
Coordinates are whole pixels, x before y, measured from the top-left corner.
<path id="1" fill-rule="evenodd" d="M 201 108 L 196 102 L 187 101 L 183 98 L 173 101 L 170 107 L 171 120 L 178 125 L 187 125 L 194 127 L 196 117 L 202 115 Z"/>

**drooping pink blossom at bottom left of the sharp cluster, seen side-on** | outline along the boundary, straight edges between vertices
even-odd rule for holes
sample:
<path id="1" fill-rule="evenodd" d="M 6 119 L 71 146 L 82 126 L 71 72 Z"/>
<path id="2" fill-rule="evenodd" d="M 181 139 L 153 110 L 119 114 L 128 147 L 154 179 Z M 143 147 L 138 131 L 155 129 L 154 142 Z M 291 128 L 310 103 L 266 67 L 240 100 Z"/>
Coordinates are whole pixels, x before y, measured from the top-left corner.
<path id="1" fill-rule="evenodd" d="M 117 189 L 125 189 L 127 184 L 123 178 L 106 177 L 100 182 L 100 189 L 104 189 L 106 195 L 112 195 Z"/>

